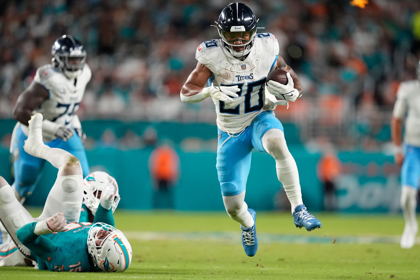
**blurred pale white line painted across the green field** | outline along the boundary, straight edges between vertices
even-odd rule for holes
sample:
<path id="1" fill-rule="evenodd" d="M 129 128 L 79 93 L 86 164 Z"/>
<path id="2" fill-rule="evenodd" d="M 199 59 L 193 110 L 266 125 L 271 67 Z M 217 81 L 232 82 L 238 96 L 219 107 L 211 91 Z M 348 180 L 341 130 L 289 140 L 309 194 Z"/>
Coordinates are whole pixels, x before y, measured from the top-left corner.
<path id="1" fill-rule="evenodd" d="M 171 232 L 150 232 L 150 231 L 127 231 L 124 235 L 129 239 L 136 240 L 217 240 L 230 243 L 240 243 L 241 234 L 230 232 L 215 233 L 171 233 Z M 391 243 L 399 244 L 400 236 L 293 236 L 282 234 L 258 233 L 258 242 L 263 243 L 335 243 L 341 244 L 373 244 L 373 243 Z M 420 244 L 420 238 L 416 238 L 416 244 Z"/>

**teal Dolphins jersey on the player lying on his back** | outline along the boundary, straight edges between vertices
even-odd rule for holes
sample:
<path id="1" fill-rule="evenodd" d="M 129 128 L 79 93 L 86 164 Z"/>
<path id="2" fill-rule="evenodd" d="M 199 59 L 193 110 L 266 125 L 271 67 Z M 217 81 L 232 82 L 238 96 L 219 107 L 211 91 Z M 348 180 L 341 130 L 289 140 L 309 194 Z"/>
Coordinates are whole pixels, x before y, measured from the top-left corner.
<path id="1" fill-rule="evenodd" d="M 112 208 L 98 207 L 95 221 L 114 226 Z M 102 271 L 92 263 L 88 253 L 87 237 L 92 226 L 90 222 L 72 222 L 65 231 L 48 233 L 42 236 L 34 234 L 36 222 L 24 225 L 17 232 L 18 239 L 31 250 L 31 255 L 38 263 L 39 270 L 87 272 Z"/>

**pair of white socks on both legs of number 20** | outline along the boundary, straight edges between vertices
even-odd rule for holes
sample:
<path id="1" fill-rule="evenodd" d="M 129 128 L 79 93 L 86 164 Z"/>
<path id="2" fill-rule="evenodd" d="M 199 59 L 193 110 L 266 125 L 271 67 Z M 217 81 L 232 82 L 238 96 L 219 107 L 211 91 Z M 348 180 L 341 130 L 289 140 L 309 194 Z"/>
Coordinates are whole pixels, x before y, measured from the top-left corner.
<path id="1" fill-rule="evenodd" d="M 299 172 L 293 156 L 289 152 L 284 139 L 284 133 L 278 128 L 269 129 L 262 136 L 262 147 L 276 160 L 277 178 L 283 184 L 286 195 L 291 204 L 291 212 L 295 207 L 303 204 L 299 182 Z M 226 212 L 244 228 L 254 225 L 254 219 L 248 212 L 248 205 L 244 201 L 245 191 L 234 196 L 222 196 Z"/>

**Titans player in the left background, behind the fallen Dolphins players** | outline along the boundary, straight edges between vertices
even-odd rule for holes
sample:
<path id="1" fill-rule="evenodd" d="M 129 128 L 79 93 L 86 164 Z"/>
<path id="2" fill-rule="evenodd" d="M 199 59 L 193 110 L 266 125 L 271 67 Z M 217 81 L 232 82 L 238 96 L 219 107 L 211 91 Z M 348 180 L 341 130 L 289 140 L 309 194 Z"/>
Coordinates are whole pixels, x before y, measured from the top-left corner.
<path id="1" fill-rule="evenodd" d="M 83 45 L 71 35 L 55 40 L 52 63 L 37 69 L 34 81 L 22 92 L 13 109 L 18 121 L 13 129 L 11 153 L 15 162 L 13 189 L 19 201 L 30 196 L 38 181 L 44 159 L 25 152 L 28 121 L 34 113 L 42 113 L 42 136 L 49 147 L 70 152 L 80 161 L 83 174 L 89 174 L 89 165 L 82 144 L 85 135 L 76 111 L 92 73 L 86 64 Z"/>

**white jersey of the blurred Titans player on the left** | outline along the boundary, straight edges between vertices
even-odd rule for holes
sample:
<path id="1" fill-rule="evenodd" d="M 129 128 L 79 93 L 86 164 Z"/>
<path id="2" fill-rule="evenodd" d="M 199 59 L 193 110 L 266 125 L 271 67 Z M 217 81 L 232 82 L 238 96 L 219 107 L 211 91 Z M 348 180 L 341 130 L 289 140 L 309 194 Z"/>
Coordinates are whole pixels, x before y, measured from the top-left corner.
<path id="1" fill-rule="evenodd" d="M 48 91 L 48 99 L 32 113 L 42 113 L 44 120 L 51 120 L 60 126 L 71 127 L 71 120 L 79 109 L 84 90 L 91 76 L 92 72 L 87 64 L 76 79 L 68 79 L 51 64 L 39 67 L 34 82 Z M 21 124 L 21 127 L 27 135 L 28 126 Z M 46 136 L 44 133 L 43 136 L 44 141 L 55 139 L 55 136 Z"/>

